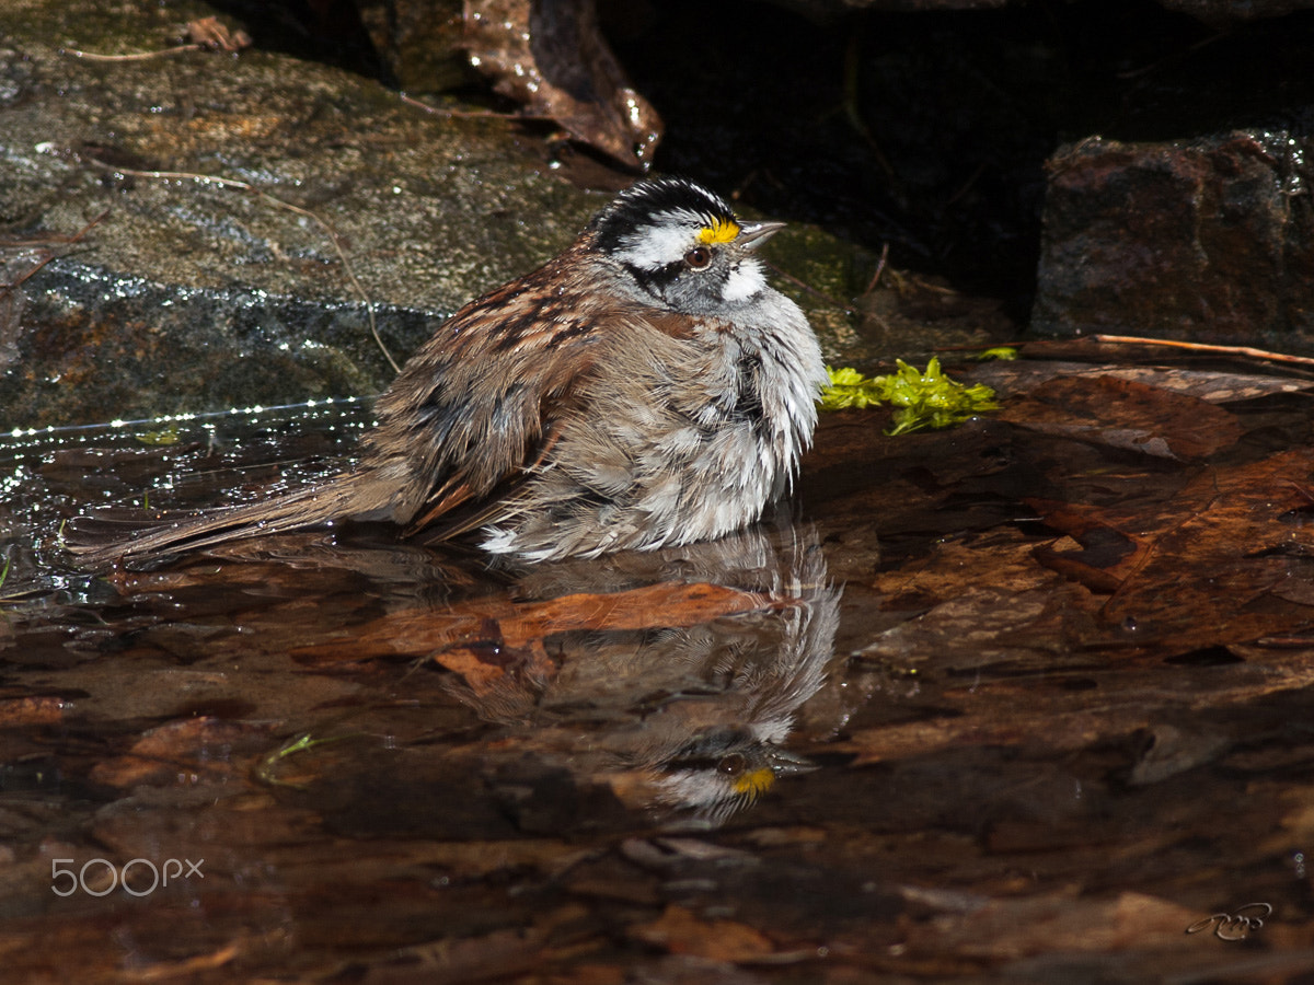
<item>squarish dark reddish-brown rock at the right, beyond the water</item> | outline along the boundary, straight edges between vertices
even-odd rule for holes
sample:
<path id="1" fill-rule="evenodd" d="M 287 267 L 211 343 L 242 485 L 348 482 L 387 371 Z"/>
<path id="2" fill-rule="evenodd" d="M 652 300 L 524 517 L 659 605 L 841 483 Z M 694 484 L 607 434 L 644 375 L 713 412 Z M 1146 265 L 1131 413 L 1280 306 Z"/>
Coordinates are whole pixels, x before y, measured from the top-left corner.
<path id="1" fill-rule="evenodd" d="M 1310 348 L 1309 146 L 1272 130 L 1059 150 L 1033 328 Z"/>

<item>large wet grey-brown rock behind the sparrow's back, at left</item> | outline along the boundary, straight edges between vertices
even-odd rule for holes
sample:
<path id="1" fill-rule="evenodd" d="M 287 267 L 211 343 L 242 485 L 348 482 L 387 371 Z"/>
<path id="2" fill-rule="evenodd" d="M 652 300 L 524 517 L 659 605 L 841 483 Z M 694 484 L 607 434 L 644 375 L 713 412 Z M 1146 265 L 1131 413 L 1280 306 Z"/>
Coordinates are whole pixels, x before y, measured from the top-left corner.
<path id="1" fill-rule="evenodd" d="M 240 55 L 78 54 L 160 53 L 213 13 L 0 13 L 5 429 L 377 393 L 371 310 L 402 361 L 627 183 L 582 192 L 516 123 L 430 112 L 259 29 Z"/>

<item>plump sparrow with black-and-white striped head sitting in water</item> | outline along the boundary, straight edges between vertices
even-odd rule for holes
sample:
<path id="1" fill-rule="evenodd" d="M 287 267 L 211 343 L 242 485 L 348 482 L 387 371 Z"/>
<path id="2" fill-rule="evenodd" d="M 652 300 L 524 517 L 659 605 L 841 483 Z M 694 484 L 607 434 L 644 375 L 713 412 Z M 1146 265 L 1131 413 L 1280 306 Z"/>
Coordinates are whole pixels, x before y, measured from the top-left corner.
<path id="1" fill-rule="evenodd" d="M 439 327 L 350 471 L 71 549 L 106 562 L 356 519 L 481 529 L 486 550 L 540 561 L 752 523 L 811 441 L 825 377 L 754 255 L 781 225 L 741 223 L 692 181 L 640 181 Z"/>

